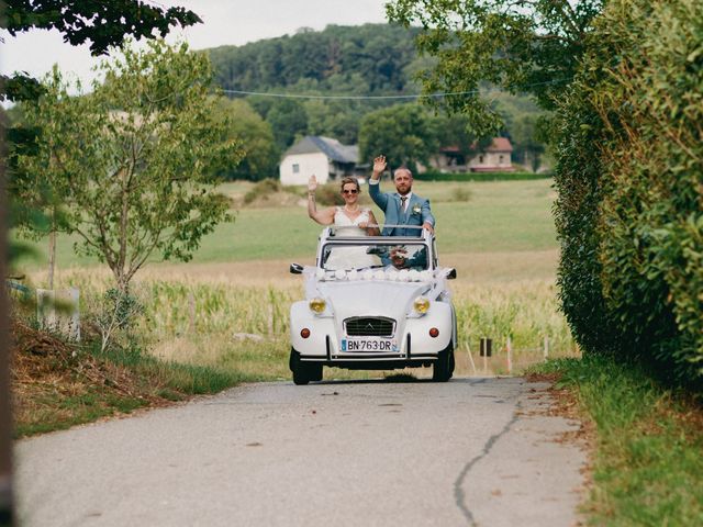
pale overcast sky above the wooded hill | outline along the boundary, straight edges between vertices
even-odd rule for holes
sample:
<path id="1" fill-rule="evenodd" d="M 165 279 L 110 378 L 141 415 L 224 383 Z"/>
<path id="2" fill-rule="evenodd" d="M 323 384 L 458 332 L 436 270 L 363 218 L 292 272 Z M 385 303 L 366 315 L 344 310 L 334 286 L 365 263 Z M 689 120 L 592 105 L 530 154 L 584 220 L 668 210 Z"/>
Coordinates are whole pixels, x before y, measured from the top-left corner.
<path id="1" fill-rule="evenodd" d="M 171 33 L 193 49 L 242 45 L 261 38 L 292 34 L 300 27 L 323 30 L 327 24 L 358 25 L 384 22 L 388 0 L 154 0 L 159 5 L 182 5 L 198 13 L 203 23 Z M 2 32 L 0 70 L 26 71 L 43 77 L 56 63 L 81 80 L 92 78 L 96 59 L 88 46 L 71 46 L 58 32 L 32 31 L 18 37 Z"/>

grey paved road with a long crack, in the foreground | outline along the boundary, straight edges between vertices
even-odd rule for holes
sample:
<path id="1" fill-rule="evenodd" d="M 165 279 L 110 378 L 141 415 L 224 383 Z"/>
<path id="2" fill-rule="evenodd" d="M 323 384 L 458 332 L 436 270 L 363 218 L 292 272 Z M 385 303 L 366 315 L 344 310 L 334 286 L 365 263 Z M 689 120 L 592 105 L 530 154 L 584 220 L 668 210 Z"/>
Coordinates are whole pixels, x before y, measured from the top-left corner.
<path id="1" fill-rule="evenodd" d="M 239 386 L 20 441 L 24 526 L 570 526 L 584 453 L 546 384 Z"/>

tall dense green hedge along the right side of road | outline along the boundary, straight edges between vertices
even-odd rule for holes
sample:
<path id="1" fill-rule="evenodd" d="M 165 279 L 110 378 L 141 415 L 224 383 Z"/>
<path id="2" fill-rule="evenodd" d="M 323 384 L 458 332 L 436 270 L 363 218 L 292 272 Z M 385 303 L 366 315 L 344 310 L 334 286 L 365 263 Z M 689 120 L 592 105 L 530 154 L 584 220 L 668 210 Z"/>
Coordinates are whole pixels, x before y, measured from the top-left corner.
<path id="1" fill-rule="evenodd" d="M 558 111 L 563 310 L 587 351 L 703 386 L 703 4 L 607 3 Z"/>

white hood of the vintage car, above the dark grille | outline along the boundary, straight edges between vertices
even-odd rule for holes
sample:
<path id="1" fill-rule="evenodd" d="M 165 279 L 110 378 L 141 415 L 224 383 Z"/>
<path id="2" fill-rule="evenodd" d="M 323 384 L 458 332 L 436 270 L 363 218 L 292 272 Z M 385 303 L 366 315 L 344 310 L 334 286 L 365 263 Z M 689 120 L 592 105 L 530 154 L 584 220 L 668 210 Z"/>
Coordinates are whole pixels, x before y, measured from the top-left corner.
<path id="1" fill-rule="evenodd" d="M 335 317 L 389 316 L 402 318 L 412 302 L 431 290 L 426 282 L 317 282 Z"/>

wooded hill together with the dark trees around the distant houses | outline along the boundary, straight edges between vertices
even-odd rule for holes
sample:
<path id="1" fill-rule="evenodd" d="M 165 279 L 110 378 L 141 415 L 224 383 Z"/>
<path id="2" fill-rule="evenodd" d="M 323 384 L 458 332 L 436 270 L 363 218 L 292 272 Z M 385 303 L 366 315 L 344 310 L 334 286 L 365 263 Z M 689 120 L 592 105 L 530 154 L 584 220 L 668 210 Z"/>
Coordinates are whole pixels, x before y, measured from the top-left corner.
<path id="1" fill-rule="evenodd" d="M 416 94 L 421 92 L 421 87 L 415 76 L 434 64 L 433 59 L 417 55 L 414 44 L 416 35 L 417 30 L 388 24 L 330 25 L 321 32 L 303 29 L 294 35 L 244 46 L 222 46 L 208 53 L 216 81 L 224 90 L 319 96 Z M 274 146 L 270 149 L 264 148 L 263 141 L 258 141 L 259 154 L 264 148 L 274 153 L 271 155 L 275 157 L 275 162 L 268 164 L 265 172 L 253 171 L 245 158 L 239 167 L 227 173 L 231 178 L 245 179 L 276 176 L 275 165 L 280 156 L 304 135 L 334 137 L 344 144 L 365 143 L 359 132 L 364 122 L 373 122 L 373 112 L 384 112 L 379 114 L 379 119 L 383 119 L 391 106 L 417 105 L 416 102 L 398 99 L 349 101 L 233 93 L 228 97 L 244 99 L 269 127 L 268 135 L 272 135 Z M 502 135 L 510 137 L 513 143 L 513 160 L 536 169 L 544 153 L 544 144 L 537 133 L 543 112 L 526 97 L 505 93 L 493 93 L 491 97 L 505 121 Z M 241 105 L 237 112 L 244 112 Z M 404 112 L 397 109 L 398 114 Z M 432 114 L 431 109 L 423 112 Z M 437 121 L 434 119 L 432 122 Z M 260 127 L 260 123 L 257 123 L 257 127 Z M 470 145 L 461 143 L 473 142 L 481 134 L 481 131 L 468 131 L 456 137 L 446 133 L 436 137 L 435 131 L 411 132 L 421 138 L 426 135 L 426 144 L 433 147 L 438 142 L 440 146 L 460 146 L 465 150 Z M 373 142 L 378 143 L 379 138 Z M 397 142 L 397 137 L 381 141 L 389 144 Z M 249 149 L 246 144 L 244 147 Z"/>

